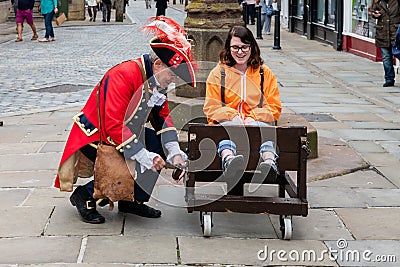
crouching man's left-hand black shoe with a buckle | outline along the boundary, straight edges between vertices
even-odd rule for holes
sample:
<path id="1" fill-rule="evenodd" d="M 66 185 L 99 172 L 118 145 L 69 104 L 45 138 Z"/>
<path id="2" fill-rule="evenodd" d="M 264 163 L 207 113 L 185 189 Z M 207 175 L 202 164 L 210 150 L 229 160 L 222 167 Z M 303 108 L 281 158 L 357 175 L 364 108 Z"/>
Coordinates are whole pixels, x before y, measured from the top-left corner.
<path id="1" fill-rule="evenodd" d="M 105 218 L 96 210 L 96 201 L 83 186 L 78 186 L 69 198 L 82 220 L 87 223 L 104 223 Z"/>

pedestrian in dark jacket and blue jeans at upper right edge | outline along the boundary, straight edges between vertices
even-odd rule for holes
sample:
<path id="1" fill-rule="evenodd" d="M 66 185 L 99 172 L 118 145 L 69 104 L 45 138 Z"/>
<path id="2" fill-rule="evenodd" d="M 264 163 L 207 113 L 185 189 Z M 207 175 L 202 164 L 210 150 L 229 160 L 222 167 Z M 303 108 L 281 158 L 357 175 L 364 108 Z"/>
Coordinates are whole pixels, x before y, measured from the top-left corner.
<path id="1" fill-rule="evenodd" d="M 382 54 L 385 83 L 383 87 L 394 86 L 392 46 L 396 39 L 397 26 L 400 23 L 400 5 L 398 0 L 377 0 L 372 6 L 371 16 L 377 20 L 375 45 Z"/>

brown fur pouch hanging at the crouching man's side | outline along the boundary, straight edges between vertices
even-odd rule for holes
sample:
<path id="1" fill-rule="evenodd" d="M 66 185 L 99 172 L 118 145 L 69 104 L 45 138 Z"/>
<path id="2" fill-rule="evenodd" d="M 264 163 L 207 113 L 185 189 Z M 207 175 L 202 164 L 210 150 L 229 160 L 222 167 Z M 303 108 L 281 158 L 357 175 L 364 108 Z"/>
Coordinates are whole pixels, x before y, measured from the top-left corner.
<path id="1" fill-rule="evenodd" d="M 94 163 L 93 197 L 108 198 L 111 202 L 133 201 L 135 165 L 136 161 L 125 161 L 114 146 L 100 143 Z"/>

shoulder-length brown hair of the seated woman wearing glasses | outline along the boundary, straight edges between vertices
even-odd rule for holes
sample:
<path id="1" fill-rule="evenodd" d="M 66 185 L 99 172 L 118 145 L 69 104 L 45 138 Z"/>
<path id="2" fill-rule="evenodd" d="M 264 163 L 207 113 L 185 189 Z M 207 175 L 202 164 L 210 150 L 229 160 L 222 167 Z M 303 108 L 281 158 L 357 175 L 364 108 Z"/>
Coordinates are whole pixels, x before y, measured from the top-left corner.
<path id="1" fill-rule="evenodd" d="M 224 63 L 230 67 L 233 67 L 236 64 L 236 61 L 233 59 L 231 54 L 232 37 L 238 37 L 243 43 L 250 45 L 251 54 L 249 60 L 247 61 L 247 66 L 258 68 L 263 64 L 264 61 L 260 56 L 260 47 L 258 46 L 253 33 L 248 28 L 243 26 L 233 26 L 229 30 L 228 37 L 225 41 L 225 47 L 219 54 L 219 60 L 221 63 Z"/>

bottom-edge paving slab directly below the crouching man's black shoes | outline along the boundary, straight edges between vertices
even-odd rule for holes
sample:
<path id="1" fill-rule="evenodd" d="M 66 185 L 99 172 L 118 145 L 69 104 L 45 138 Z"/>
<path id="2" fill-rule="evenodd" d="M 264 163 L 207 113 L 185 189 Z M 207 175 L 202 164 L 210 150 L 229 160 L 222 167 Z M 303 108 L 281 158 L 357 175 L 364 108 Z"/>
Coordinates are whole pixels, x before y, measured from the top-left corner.
<path id="1" fill-rule="evenodd" d="M 177 264 L 174 236 L 89 236 L 83 263 Z"/>

